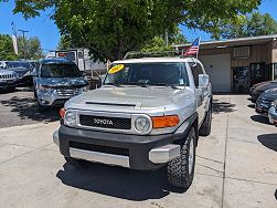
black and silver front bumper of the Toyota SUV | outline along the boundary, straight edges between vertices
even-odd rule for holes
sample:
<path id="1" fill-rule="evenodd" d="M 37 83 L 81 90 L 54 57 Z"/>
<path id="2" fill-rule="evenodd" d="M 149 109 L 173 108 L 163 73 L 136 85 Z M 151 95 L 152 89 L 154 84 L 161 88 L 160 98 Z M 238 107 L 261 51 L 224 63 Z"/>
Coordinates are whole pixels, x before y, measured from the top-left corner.
<path id="1" fill-rule="evenodd" d="M 180 155 L 184 134 L 155 136 L 115 134 L 61 126 L 54 143 L 65 157 L 128 167 L 156 169 Z"/>

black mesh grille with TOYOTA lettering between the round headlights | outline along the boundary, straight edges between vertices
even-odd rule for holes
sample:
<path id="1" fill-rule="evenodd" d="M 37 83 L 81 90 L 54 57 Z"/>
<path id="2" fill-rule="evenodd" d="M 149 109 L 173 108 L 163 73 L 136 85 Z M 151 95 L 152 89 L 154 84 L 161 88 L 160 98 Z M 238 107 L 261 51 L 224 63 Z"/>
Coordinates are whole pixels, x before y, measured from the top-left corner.
<path id="1" fill-rule="evenodd" d="M 100 127 L 100 128 L 114 128 L 114 129 L 131 128 L 131 119 L 122 117 L 79 115 L 79 124 L 84 126 Z"/>

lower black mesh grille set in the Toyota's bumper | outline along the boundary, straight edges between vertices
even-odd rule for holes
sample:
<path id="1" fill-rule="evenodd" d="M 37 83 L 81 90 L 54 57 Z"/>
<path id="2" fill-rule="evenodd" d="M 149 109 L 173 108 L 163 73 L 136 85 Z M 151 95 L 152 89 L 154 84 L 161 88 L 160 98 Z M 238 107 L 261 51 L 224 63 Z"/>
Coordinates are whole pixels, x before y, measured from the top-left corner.
<path id="1" fill-rule="evenodd" d="M 70 147 L 84 149 L 84 150 L 92 150 L 92 152 L 97 152 L 97 153 L 106 153 L 106 154 L 111 154 L 111 155 L 129 156 L 129 149 L 127 148 L 78 143 L 78 142 L 73 142 L 73 141 L 70 141 Z"/>

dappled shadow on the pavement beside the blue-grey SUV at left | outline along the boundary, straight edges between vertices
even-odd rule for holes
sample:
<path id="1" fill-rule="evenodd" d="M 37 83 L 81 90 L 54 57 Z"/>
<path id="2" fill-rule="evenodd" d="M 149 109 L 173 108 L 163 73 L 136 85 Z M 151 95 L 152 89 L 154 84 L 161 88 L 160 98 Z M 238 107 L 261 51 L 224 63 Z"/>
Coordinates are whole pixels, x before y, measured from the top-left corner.
<path id="1" fill-rule="evenodd" d="M 10 107 L 11 112 L 18 113 L 20 119 L 32 119 L 38 122 L 55 122 L 60 119 L 57 108 L 49 108 L 45 112 L 39 112 L 34 97 L 12 96 L 9 100 L 2 100 L 0 103 Z"/>

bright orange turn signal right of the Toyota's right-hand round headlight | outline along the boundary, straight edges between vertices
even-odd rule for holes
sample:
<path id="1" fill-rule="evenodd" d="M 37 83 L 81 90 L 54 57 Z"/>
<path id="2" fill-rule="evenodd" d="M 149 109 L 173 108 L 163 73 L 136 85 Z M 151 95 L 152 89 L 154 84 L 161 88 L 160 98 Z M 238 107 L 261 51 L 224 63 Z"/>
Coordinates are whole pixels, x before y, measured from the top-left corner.
<path id="1" fill-rule="evenodd" d="M 166 128 L 177 126 L 180 122 L 178 115 L 158 116 L 151 117 L 153 123 L 153 128 Z"/>

